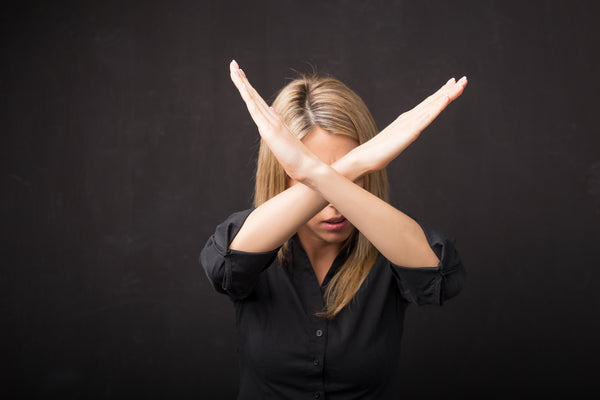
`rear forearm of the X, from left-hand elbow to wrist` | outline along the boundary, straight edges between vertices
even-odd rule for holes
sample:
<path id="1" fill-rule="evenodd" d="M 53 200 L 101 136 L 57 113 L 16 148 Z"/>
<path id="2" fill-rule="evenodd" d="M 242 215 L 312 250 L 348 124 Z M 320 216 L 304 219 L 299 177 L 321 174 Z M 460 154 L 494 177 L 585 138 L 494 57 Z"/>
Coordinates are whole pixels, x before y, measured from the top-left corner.
<path id="1" fill-rule="evenodd" d="M 365 172 L 352 153 L 332 164 L 331 169 L 354 186 L 357 185 L 352 181 Z M 308 186 L 294 185 L 254 209 L 229 248 L 246 252 L 276 249 L 327 204 L 327 200 Z"/>

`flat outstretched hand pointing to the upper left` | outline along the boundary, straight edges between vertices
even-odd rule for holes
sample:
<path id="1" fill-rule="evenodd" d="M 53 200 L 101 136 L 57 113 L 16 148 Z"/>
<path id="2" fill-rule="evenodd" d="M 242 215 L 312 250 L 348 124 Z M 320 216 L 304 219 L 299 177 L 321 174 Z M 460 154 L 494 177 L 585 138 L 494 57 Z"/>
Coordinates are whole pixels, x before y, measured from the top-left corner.
<path id="1" fill-rule="evenodd" d="M 250 85 L 246 74 L 239 68 L 235 60 L 231 61 L 229 69 L 231 80 L 246 102 L 260 136 L 285 172 L 292 179 L 303 182 L 306 179 L 306 173 L 322 162 L 292 134 L 281 116 L 267 105 Z"/>

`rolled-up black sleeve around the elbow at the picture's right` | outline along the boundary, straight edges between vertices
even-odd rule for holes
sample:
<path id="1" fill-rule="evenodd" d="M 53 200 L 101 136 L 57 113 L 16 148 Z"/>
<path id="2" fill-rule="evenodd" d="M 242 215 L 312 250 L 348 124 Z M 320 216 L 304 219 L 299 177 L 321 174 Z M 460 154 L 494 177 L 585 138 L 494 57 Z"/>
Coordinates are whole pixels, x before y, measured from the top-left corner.
<path id="1" fill-rule="evenodd" d="M 402 297 L 417 305 L 443 305 L 462 289 L 466 270 L 462 264 L 456 240 L 432 225 L 415 219 L 425 232 L 429 246 L 440 262 L 435 267 L 409 268 L 390 263 Z"/>

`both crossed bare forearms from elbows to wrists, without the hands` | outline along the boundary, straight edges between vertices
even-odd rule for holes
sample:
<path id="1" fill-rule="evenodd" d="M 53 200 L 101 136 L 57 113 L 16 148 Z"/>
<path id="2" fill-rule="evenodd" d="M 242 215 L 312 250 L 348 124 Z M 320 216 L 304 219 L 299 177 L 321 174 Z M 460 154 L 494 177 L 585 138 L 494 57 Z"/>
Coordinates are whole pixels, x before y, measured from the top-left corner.
<path id="1" fill-rule="evenodd" d="M 439 259 L 420 225 L 353 182 L 366 172 L 352 153 L 331 166 L 315 163 L 303 184 L 286 189 L 250 213 L 230 249 L 276 249 L 331 203 L 392 263 L 437 266 Z"/>

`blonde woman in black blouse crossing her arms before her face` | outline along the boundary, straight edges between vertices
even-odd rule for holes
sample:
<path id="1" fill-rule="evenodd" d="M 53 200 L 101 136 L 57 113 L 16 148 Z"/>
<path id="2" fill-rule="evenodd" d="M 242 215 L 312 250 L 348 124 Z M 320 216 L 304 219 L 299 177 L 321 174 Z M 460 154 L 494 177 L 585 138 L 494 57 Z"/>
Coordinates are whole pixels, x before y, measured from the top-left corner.
<path id="1" fill-rule="evenodd" d="M 230 72 L 261 135 L 255 208 L 220 224 L 200 262 L 234 303 L 238 398 L 398 398 L 406 307 L 442 305 L 465 270 L 454 239 L 386 202 L 384 167 L 466 78 L 377 134 L 338 80 L 301 77 L 269 107 Z"/>

